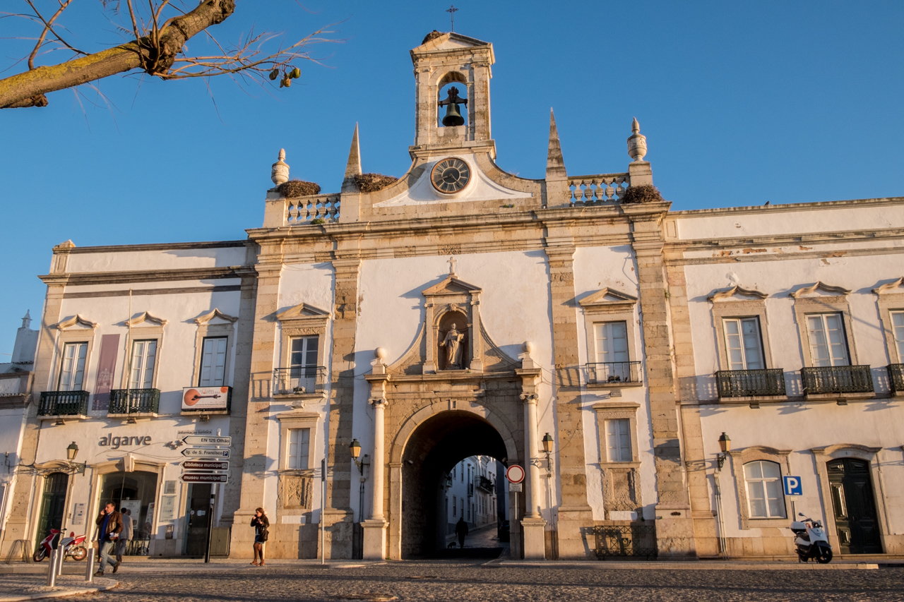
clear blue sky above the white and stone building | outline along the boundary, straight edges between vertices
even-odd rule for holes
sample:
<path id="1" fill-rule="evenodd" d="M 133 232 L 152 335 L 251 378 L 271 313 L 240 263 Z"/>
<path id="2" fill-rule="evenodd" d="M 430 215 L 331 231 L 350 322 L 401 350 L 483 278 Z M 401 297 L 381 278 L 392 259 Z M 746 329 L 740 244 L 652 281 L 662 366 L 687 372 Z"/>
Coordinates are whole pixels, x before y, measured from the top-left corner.
<path id="1" fill-rule="evenodd" d="M 313 49 L 323 65 L 300 64 L 272 93 L 116 77 L 99 84 L 112 109 L 86 90 L 84 110 L 61 91 L 47 108 L 0 111 L 0 353 L 26 309 L 41 315 L 36 275 L 54 244 L 241 239 L 262 222 L 278 149 L 292 177 L 338 191 L 355 122 L 364 171 L 407 170 L 409 50 L 448 30 L 448 0 L 238 6 L 212 30 L 221 40 L 344 21 L 344 43 Z M 570 174 L 626 171 L 636 117 L 674 210 L 904 195 L 904 3 L 456 6 L 456 31 L 494 44 L 493 135 L 510 172 L 542 177 L 554 108 Z M 99 0 L 78 11 L 63 23 L 83 47 L 118 42 Z M 24 34 L 0 22 L 0 38 Z M 0 69 L 21 43 L 0 39 Z"/>

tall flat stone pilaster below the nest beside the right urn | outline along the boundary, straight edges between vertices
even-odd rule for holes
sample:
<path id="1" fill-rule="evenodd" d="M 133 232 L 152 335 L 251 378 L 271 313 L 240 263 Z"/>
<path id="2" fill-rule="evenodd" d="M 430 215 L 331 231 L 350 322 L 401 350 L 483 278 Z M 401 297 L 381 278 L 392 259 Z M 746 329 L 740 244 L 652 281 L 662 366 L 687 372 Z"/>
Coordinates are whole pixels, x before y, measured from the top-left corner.
<path id="1" fill-rule="evenodd" d="M 637 259 L 641 332 L 646 355 L 656 491 L 659 496 L 656 503 L 656 545 L 660 557 L 694 556 L 696 546 L 679 439 L 669 292 L 660 225 L 669 204 L 622 205 L 621 209 L 632 222 L 631 244 Z"/>

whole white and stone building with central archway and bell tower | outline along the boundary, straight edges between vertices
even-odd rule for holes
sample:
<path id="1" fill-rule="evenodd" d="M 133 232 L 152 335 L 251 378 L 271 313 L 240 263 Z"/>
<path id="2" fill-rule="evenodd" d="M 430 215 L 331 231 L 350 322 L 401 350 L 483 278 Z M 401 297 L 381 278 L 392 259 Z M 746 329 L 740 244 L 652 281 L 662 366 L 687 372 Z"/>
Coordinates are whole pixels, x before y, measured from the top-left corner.
<path id="1" fill-rule="evenodd" d="M 210 523 L 250 557 L 263 507 L 270 557 L 321 526 L 326 558 L 428 555 L 467 456 L 525 468 L 515 558 L 790 556 L 797 512 L 904 553 L 904 198 L 673 212 L 636 122 L 626 171 L 571 175 L 551 119 L 524 179 L 492 44 L 411 59 L 400 179 L 355 129 L 341 192 L 280 158 L 246 240 L 53 248 L 3 553 L 112 498 L 132 553 Z"/>

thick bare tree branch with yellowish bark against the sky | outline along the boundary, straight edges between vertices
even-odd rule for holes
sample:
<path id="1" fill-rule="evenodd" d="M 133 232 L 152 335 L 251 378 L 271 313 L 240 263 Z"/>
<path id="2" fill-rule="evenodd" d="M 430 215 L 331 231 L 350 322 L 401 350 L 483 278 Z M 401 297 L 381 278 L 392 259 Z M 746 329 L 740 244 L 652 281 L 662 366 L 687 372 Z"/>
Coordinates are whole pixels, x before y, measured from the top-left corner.
<path id="1" fill-rule="evenodd" d="M 185 42 L 221 24 L 235 11 L 235 0 L 206 0 L 191 13 L 174 18 L 159 33 L 159 54 L 148 37 L 50 67 L 38 67 L 0 80 L 0 108 L 44 107 L 43 94 L 143 68 L 165 75 Z M 155 63 L 156 59 L 156 63 Z M 152 71 L 153 65 L 153 71 Z"/>

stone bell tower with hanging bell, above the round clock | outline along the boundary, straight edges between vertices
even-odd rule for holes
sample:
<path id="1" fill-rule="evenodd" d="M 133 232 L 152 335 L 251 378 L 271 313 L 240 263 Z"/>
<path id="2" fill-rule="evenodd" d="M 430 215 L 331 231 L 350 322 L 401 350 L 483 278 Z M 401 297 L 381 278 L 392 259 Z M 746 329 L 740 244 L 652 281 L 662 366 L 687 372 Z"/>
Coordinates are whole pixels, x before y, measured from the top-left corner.
<path id="1" fill-rule="evenodd" d="M 411 51 L 416 83 L 414 146 L 411 158 L 450 149 L 489 152 L 496 149 L 490 134 L 490 79 L 495 62 L 493 44 L 459 33 L 433 32 Z M 456 84 L 455 91 L 443 88 Z M 439 98 L 440 96 L 444 98 Z M 460 112 L 464 125 L 456 113 Z M 447 124 L 443 125 L 445 116 Z"/>

